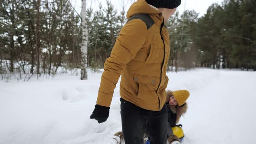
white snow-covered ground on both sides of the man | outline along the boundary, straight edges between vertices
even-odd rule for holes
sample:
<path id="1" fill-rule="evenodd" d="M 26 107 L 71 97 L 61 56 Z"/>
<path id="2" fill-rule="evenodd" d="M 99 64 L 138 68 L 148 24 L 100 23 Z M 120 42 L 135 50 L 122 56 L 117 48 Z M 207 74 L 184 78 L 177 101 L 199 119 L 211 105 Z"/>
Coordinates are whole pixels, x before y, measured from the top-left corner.
<path id="1" fill-rule="evenodd" d="M 190 91 L 180 123 L 183 144 L 255 144 L 256 72 L 196 69 L 168 72 L 167 89 Z M 106 122 L 91 120 L 101 72 L 89 80 L 57 75 L 0 81 L 0 144 L 116 144 L 121 131 L 119 83 Z"/>

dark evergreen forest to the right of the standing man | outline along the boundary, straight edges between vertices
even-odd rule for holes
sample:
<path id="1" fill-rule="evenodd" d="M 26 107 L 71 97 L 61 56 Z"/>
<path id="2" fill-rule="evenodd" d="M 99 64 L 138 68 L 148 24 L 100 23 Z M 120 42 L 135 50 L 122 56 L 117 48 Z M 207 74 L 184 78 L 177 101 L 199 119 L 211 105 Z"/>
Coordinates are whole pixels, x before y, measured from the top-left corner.
<path id="1" fill-rule="evenodd" d="M 198 18 L 194 10 L 169 21 L 170 65 L 256 71 L 256 0 L 213 3 Z"/>

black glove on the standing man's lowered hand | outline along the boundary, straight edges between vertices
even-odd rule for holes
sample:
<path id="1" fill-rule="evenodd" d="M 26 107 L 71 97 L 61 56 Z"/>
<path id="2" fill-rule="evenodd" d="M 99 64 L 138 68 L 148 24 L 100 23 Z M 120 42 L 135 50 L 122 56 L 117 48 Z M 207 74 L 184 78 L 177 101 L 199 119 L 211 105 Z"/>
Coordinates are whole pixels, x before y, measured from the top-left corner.
<path id="1" fill-rule="evenodd" d="M 97 120 L 98 123 L 105 122 L 108 119 L 109 109 L 110 109 L 109 107 L 96 104 L 95 109 L 93 110 L 90 118 Z"/>

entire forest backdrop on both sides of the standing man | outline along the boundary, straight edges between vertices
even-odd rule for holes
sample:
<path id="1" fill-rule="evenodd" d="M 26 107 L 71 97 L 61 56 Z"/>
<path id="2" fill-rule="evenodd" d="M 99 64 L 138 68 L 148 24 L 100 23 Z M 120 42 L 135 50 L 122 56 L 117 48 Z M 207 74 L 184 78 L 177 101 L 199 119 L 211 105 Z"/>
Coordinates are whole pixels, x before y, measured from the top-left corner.
<path id="1" fill-rule="evenodd" d="M 88 7 L 87 62 L 103 68 L 121 27 L 111 1 Z M 256 1 L 224 0 L 199 17 L 194 10 L 175 13 L 167 22 L 173 67 L 256 70 Z M 81 16 L 69 0 L 0 0 L 0 73 L 54 74 L 81 68 Z"/>

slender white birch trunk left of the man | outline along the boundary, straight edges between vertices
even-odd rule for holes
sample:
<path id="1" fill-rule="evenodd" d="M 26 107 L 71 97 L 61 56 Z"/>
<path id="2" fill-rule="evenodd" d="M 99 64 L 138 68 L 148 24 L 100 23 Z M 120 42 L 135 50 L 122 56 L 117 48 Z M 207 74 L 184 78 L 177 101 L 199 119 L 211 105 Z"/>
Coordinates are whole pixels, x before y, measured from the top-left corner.
<path id="1" fill-rule="evenodd" d="M 87 79 L 87 42 L 88 42 L 88 28 L 86 23 L 86 0 L 82 0 L 82 47 L 81 47 L 81 80 Z"/>

